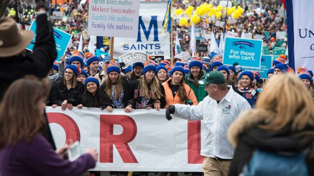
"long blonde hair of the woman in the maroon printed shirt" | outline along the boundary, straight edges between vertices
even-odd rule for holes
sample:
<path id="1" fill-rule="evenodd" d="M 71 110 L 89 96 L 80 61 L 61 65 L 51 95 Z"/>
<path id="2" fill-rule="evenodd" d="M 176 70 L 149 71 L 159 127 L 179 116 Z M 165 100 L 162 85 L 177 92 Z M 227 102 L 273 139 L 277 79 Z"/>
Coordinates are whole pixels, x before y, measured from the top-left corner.
<path id="1" fill-rule="evenodd" d="M 140 82 L 139 82 L 139 90 L 142 93 L 141 96 L 145 97 L 146 100 L 149 99 L 149 91 L 148 91 L 147 84 L 148 83 L 146 82 L 145 74 L 141 75 Z M 159 86 L 159 80 L 155 76 L 152 78 L 150 82 L 150 91 L 152 94 L 152 99 L 159 100 L 162 97 L 164 97 L 164 95 L 162 94 L 162 90 L 160 89 L 160 86 Z"/>

